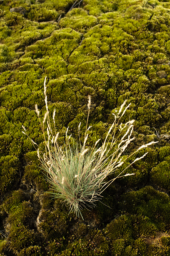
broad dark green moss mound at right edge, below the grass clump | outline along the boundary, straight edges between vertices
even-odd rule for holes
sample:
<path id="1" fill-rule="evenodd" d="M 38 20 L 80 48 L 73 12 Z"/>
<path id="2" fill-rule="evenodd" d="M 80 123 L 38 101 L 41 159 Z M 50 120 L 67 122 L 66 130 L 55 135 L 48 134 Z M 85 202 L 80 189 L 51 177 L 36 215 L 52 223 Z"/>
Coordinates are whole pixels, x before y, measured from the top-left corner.
<path id="1" fill-rule="evenodd" d="M 147 216 L 161 231 L 170 225 L 169 204 L 168 195 L 154 190 L 151 186 L 123 194 L 121 199 L 122 210 L 130 214 Z"/>

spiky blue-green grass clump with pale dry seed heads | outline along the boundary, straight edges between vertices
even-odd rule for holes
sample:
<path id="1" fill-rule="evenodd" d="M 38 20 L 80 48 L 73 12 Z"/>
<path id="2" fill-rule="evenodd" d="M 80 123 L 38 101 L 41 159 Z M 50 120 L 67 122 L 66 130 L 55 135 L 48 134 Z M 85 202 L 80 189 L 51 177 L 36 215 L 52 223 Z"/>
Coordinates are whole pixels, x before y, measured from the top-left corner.
<path id="1" fill-rule="evenodd" d="M 45 152 L 42 155 L 42 151 L 38 148 L 38 158 L 41 162 L 43 170 L 46 171 L 46 179 L 51 185 L 51 194 L 54 198 L 59 198 L 66 204 L 69 204 L 70 211 L 74 211 L 77 216 L 79 214 L 82 217 L 81 210 L 83 207 L 94 206 L 95 202 L 101 198 L 102 192 L 118 177 L 129 176 L 134 174 L 123 174 L 125 170 L 132 165 L 134 162 L 144 158 L 147 153 L 145 153 L 140 158 L 135 158 L 135 160 L 129 164 L 116 178 L 111 179 L 109 182 L 106 181 L 106 177 L 113 174 L 118 170 L 118 168 L 124 164 L 124 162 L 136 154 L 140 149 L 146 148 L 157 142 L 150 142 L 148 144 L 140 146 L 135 152 L 128 155 L 126 158 L 123 153 L 127 149 L 128 145 L 134 138 L 131 138 L 133 132 L 134 120 L 128 121 L 126 124 L 120 124 L 119 121 L 125 114 L 126 110 L 129 108 L 130 104 L 125 107 L 125 102 L 121 105 L 119 112 L 115 112 L 114 122 L 111 125 L 107 136 L 101 146 L 98 146 L 100 140 L 95 142 L 93 148 L 88 148 L 86 146 L 88 140 L 88 119 L 91 106 L 91 97 L 88 100 L 88 116 L 87 125 L 85 130 L 84 142 L 81 144 L 80 140 L 80 126 L 78 127 L 79 133 L 79 143 L 71 146 L 70 138 L 68 136 L 68 128 L 66 131 L 66 142 L 64 148 L 58 145 L 57 139 L 59 137 L 59 132 L 55 130 L 55 110 L 53 112 L 53 124 L 54 131 L 51 128 L 51 123 L 49 120 L 49 110 L 47 105 L 47 95 L 46 95 L 46 78 L 44 81 L 44 96 L 45 96 L 45 106 L 46 113 L 43 118 L 43 122 L 40 120 L 40 112 L 38 106 L 36 105 L 36 113 L 40 120 L 40 125 L 43 132 L 44 142 L 45 142 Z M 45 136 L 44 124 L 47 122 L 47 138 Z M 26 129 L 23 126 L 24 134 Z M 119 135 L 116 135 L 117 128 L 119 128 Z M 122 137 L 121 137 L 121 134 Z M 31 140 L 31 139 L 30 139 Z M 31 140 L 33 144 L 36 144 Z M 37 144 L 36 144 L 37 145 Z M 37 145 L 38 146 L 38 145 Z M 83 217 L 82 217 L 83 218 Z"/>

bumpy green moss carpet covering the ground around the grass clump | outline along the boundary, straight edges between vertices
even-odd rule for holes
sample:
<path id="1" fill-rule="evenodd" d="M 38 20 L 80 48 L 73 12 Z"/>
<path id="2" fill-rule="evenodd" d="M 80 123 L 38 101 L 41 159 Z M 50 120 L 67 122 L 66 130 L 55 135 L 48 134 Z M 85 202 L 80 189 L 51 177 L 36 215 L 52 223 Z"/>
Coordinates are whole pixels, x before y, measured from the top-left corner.
<path id="1" fill-rule="evenodd" d="M 0 256 L 170 256 L 170 0 L 74 3 L 0 0 Z M 89 146 L 125 99 L 123 121 L 136 120 L 126 154 L 159 141 L 84 221 L 45 193 L 22 133 L 43 142 L 34 107 L 43 116 L 45 76 L 60 143 L 68 126 L 77 138 L 79 122 L 83 136 L 89 94 Z"/>

